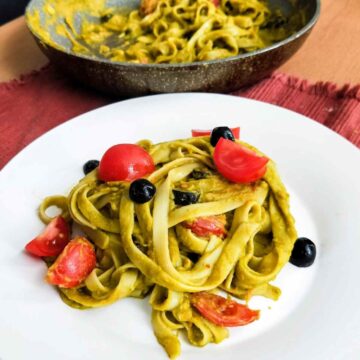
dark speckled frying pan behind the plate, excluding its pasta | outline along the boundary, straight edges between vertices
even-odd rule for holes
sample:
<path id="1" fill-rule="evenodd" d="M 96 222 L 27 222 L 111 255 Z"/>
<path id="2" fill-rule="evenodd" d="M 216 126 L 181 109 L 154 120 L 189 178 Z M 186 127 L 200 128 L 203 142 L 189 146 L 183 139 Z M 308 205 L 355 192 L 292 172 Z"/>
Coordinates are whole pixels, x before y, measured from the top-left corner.
<path id="1" fill-rule="evenodd" d="M 304 11 L 305 26 L 289 38 L 267 48 L 238 55 L 232 58 L 201 61 L 187 64 L 131 64 L 110 62 L 74 54 L 70 43 L 57 36 L 54 28 L 53 39 L 59 43 L 55 48 L 36 33 L 31 23 L 28 27 L 41 50 L 59 69 L 73 78 L 100 91 L 118 97 L 133 97 L 154 93 L 172 92 L 231 92 L 264 78 L 288 60 L 304 43 L 315 25 L 320 0 L 270 0 L 271 6 L 280 7 L 285 14 Z M 40 10 L 44 0 L 32 0 L 27 12 Z M 108 6 L 136 8 L 138 0 L 112 0 Z M 63 21 L 59 17 L 59 22 Z M 56 24 L 54 25 L 56 26 Z"/>

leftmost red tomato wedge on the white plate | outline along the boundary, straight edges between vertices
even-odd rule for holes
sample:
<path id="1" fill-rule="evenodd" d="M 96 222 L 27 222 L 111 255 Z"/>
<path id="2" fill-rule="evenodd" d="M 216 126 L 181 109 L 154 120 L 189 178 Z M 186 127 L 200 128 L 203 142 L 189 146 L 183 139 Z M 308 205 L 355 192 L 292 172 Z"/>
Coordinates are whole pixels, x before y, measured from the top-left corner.
<path id="1" fill-rule="evenodd" d="M 57 216 L 25 246 L 25 250 L 35 256 L 58 256 L 69 240 L 69 225 L 62 216 Z"/>

